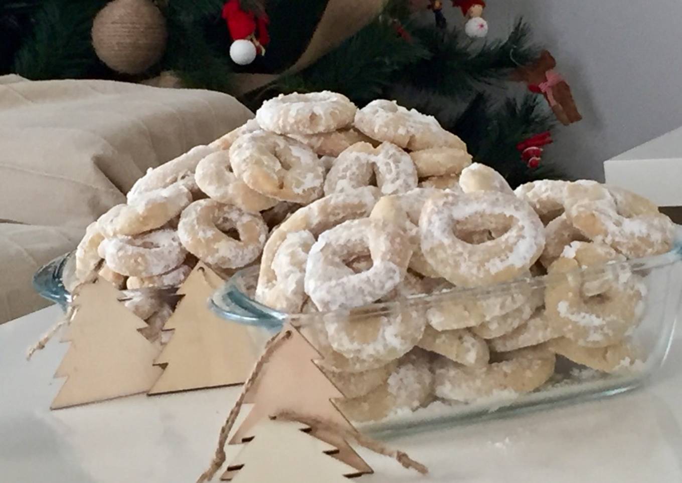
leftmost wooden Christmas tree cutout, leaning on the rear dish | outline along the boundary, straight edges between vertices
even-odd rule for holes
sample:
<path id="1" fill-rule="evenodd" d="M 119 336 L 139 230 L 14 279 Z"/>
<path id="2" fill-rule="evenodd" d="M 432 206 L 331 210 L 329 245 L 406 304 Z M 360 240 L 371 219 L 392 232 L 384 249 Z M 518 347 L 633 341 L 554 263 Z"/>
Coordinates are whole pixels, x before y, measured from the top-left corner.
<path id="1" fill-rule="evenodd" d="M 51 409 L 147 392 L 161 369 L 152 362 L 160 345 L 139 329 L 147 324 L 128 311 L 120 293 L 102 279 L 83 285 L 63 341 L 71 343 L 55 372 L 66 377 Z"/>

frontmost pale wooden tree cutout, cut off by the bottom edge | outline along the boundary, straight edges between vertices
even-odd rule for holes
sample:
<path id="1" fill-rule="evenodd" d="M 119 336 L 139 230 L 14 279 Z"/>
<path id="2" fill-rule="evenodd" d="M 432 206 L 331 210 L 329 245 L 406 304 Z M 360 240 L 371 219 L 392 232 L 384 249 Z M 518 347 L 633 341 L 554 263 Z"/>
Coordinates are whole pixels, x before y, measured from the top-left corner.
<path id="1" fill-rule="evenodd" d="M 357 471 L 327 456 L 336 448 L 303 431 L 303 424 L 265 418 L 254 427 L 224 479 L 233 483 L 348 483 L 344 476 Z"/>

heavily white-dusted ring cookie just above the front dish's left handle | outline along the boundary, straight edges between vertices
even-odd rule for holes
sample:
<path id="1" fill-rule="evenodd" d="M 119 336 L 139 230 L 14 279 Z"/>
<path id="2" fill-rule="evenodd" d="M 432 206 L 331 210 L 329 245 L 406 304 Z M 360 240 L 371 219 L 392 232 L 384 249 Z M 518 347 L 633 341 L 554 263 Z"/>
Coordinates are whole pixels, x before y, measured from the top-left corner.
<path id="1" fill-rule="evenodd" d="M 370 270 L 355 273 L 344 262 L 371 255 Z M 377 219 L 349 220 L 321 234 L 306 264 L 306 294 L 321 311 L 360 307 L 393 290 L 412 256 L 408 236 Z"/>

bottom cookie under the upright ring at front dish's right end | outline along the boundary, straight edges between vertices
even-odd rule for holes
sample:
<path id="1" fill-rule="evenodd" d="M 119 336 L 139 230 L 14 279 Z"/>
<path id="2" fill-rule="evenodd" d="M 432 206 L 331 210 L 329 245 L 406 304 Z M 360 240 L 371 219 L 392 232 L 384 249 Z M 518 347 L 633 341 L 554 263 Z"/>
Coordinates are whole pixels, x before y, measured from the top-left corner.
<path id="1" fill-rule="evenodd" d="M 640 361 L 639 356 L 627 341 L 607 347 L 582 347 L 571 339 L 554 339 L 547 344 L 548 349 L 568 360 L 605 373 L 614 373 L 632 367 Z"/>

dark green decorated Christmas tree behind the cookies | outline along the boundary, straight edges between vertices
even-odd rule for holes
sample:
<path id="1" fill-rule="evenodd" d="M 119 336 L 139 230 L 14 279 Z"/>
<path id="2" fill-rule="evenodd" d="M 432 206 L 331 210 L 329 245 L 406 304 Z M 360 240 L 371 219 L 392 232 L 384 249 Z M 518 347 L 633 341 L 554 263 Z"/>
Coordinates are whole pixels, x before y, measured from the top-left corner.
<path id="1" fill-rule="evenodd" d="M 553 127 L 543 93 L 527 93 L 520 101 L 509 95 L 498 102 L 512 74 L 539 59 L 529 25 L 517 22 L 505 40 L 485 41 L 466 37 L 460 26 L 447 28 L 442 19 L 441 28 L 430 20 L 420 22 L 419 13 L 428 5 L 439 11 L 442 3 L 425 2 L 424 10 L 415 11 L 412 0 L 158 1 L 168 30 L 166 53 L 146 72 L 124 76 L 106 68 L 91 45 L 93 18 L 106 0 L 35 1 L 28 21 L 33 27 L 13 41 L 5 54 L 12 61 L 4 63 L 35 79 L 142 81 L 164 72 L 185 87 L 235 94 L 252 110 L 269 97 L 294 91 L 338 91 L 359 106 L 396 99 L 436 116 L 466 142 L 475 161 L 501 172 L 513 187 L 558 176 L 550 153 L 544 153 L 538 168 L 516 149 Z M 484 3 L 456 2 L 479 23 Z M 487 10 L 495 8 L 494 1 L 487 4 Z M 229 12 L 240 12 L 237 18 L 222 18 L 226 5 Z M 241 52 L 248 55 L 238 56 L 239 63 L 250 61 L 254 50 L 262 55 L 237 65 L 230 58 L 235 40 L 249 50 Z"/>

